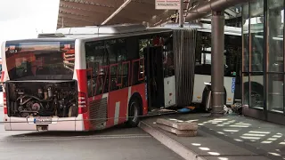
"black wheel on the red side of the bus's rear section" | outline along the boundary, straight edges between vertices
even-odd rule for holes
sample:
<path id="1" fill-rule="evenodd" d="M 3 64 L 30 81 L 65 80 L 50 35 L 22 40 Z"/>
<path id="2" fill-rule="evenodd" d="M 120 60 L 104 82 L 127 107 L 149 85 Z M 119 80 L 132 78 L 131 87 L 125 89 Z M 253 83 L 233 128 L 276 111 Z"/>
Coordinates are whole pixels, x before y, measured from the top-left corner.
<path id="1" fill-rule="evenodd" d="M 140 103 L 137 99 L 132 99 L 129 103 L 127 126 L 136 127 L 140 122 Z"/>

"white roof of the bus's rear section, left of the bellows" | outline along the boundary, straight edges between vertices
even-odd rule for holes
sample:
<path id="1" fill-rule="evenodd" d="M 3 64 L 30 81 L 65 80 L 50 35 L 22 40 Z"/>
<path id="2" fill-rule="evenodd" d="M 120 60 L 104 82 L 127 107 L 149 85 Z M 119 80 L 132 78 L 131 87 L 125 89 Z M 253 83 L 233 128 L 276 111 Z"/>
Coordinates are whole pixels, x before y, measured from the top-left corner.
<path id="1" fill-rule="evenodd" d="M 28 41 L 65 41 L 65 40 L 101 40 L 124 36 L 140 36 L 170 32 L 171 29 L 150 29 L 141 24 L 117 24 L 106 26 L 86 26 L 77 28 L 58 28 L 55 33 L 39 34 L 37 38 L 12 40 L 13 42 Z"/>

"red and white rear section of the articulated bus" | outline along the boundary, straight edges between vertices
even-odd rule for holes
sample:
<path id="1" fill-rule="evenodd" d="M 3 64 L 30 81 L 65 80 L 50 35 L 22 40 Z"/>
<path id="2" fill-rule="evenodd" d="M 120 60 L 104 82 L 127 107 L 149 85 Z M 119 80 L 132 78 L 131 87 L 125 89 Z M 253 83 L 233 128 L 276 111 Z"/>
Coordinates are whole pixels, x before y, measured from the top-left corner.
<path id="1" fill-rule="evenodd" d="M 123 24 L 4 42 L 5 130 L 136 126 L 154 108 L 175 106 L 171 36 Z"/>

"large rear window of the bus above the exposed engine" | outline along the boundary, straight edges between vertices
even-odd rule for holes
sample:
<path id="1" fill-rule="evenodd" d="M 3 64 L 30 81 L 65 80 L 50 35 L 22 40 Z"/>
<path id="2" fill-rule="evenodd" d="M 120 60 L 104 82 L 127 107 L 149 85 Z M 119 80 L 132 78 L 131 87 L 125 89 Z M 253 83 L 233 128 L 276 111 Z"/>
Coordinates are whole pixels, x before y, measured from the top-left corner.
<path id="1" fill-rule="evenodd" d="M 8 41 L 5 55 L 10 80 L 62 80 L 73 77 L 74 41 Z"/>

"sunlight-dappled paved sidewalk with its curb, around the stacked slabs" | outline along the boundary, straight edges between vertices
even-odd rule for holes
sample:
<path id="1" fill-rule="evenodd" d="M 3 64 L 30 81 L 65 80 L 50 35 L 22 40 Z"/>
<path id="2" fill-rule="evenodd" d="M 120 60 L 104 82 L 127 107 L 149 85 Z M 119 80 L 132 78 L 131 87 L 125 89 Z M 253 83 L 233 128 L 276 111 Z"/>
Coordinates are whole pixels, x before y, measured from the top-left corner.
<path id="1" fill-rule="evenodd" d="M 208 117 L 206 114 L 159 116 L 197 120 L 196 137 L 178 137 L 156 126 L 158 117 L 142 120 L 140 127 L 185 159 L 285 159 L 285 127 L 244 116 Z"/>

